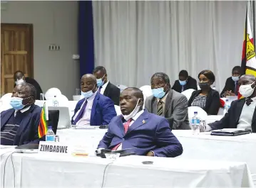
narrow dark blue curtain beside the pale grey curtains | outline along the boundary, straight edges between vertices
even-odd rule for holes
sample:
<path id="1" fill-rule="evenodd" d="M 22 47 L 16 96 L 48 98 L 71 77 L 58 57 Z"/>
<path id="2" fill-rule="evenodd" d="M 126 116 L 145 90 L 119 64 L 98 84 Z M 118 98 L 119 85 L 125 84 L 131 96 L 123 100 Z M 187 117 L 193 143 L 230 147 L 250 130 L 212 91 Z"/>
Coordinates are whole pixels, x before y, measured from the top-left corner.
<path id="1" fill-rule="evenodd" d="M 92 1 L 79 1 L 78 45 L 82 77 L 83 74 L 92 73 L 94 68 Z"/>

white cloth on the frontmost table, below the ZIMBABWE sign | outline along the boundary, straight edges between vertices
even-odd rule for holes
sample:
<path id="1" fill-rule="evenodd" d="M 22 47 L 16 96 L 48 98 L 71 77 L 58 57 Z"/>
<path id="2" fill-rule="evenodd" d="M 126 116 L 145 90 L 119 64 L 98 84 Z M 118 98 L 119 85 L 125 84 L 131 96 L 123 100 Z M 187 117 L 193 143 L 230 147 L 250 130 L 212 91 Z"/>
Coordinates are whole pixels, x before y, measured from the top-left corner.
<path id="1" fill-rule="evenodd" d="M 12 157 L 15 187 L 101 187 L 102 183 L 103 187 L 253 187 L 245 162 L 129 156 L 112 163 L 100 157 L 18 153 Z M 146 160 L 153 161 L 153 165 L 143 165 Z M 5 187 L 14 187 L 13 178 L 8 160 Z"/>

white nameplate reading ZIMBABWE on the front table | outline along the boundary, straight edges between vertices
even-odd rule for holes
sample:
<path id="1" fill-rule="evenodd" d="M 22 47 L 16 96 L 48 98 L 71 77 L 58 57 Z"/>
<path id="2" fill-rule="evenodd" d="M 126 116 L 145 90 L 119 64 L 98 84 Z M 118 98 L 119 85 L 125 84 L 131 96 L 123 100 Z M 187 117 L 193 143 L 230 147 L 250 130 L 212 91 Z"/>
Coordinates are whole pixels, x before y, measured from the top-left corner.
<path id="1" fill-rule="evenodd" d="M 39 153 L 68 155 L 70 154 L 70 148 L 65 143 L 40 141 Z"/>

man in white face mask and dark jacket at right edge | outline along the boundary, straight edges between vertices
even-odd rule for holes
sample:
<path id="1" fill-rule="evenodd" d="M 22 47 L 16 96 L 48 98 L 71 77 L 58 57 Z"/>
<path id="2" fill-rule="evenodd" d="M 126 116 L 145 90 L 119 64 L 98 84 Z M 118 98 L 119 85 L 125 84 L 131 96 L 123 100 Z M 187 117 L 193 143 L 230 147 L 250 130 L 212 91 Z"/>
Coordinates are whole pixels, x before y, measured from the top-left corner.
<path id="1" fill-rule="evenodd" d="M 256 133 L 256 78 L 252 75 L 243 75 L 238 84 L 239 92 L 245 98 L 232 101 L 230 109 L 220 121 L 215 121 L 206 126 L 206 130 L 212 131 L 221 128 L 247 128 Z"/>

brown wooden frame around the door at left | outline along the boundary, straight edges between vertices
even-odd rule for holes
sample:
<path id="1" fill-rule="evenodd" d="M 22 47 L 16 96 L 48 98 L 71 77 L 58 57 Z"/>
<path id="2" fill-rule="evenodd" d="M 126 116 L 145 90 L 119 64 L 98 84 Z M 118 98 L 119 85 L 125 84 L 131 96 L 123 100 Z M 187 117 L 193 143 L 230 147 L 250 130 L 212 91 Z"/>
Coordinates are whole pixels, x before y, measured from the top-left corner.
<path id="1" fill-rule="evenodd" d="M 26 27 L 26 29 L 28 30 L 28 32 L 26 33 L 26 38 L 29 38 L 29 40 L 26 40 L 25 43 L 26 43 L 26 46 L 28 47 L 28 49 L 26 49 L 30 54 L 26 57 L 27 61 L 30 62 L 30 65 L 28 65 L 28 70 L 29 70 L 29 77 L 34 77 L 34 35 L 33 35 L 33 24 L 26 24 L 26 23 L 1 23 L 1 37 L 3 36 L 2 35 L 2 29 L 3 31 L 8 31 L 9 28 L 11 27 L 14 27 L 16 28 L 23 28 L 23 31 L 24 31 L 24 28 Z M 28 34 L 29 33 L 29 34 Z M 2 42 L 4 40 L 1 40 L 1 70 L 0 70 L 0 74 L 1 74 L 1 83 L 4 82 L 4 70 L 2 69 L 2 67 L 4 66 L 3 65 L 3 62 L 4 62 L 4 42 Z M 19 49 L 16 49 L 16 50 L 19 50 Z M 22 52 L 21 52 L 22 54 Z M 0 87 L 0 94 L 2 94 L 4 91 L 4 86 Z"/>

